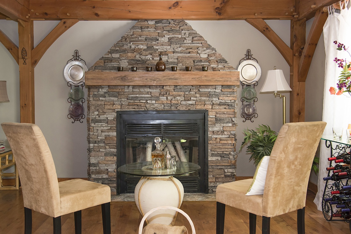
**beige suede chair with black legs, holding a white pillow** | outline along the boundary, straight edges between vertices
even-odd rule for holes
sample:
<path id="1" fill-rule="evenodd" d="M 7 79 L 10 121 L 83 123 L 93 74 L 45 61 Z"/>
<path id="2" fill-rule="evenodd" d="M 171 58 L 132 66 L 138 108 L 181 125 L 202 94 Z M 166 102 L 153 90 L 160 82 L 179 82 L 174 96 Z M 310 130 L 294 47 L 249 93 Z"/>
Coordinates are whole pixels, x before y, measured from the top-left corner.
<path id="1" fill-rule="evenodd" d="M 225 205 L 250 213 L 250 234 L 256 215 L 262 233 L 270 233 L 270 217 L 297 210 L 298 233 L 305 233 L 305 203 L 312 161 L 325 122 L 287 123 L 279 131 L 269 159 L 263 195 L 246 196 L 252 179 L 217 186 L 217 234 L 224 233 Z"/>

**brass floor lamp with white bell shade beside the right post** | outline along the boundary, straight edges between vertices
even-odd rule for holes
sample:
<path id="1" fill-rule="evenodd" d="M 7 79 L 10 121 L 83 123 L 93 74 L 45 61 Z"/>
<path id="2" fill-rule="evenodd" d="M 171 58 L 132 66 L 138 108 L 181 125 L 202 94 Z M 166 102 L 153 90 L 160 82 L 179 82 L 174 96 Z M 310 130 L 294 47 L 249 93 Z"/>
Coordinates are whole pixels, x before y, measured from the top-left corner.
<path id="1" fill-rule="evenodd" d="M 283 98 L 283 124 L 286 122 L 285 95 L 278 94 L 278 92 L 287 91 L 291 91 L 291 88 L 285 80 L 283 70 L 277 70 L 274 66 L 274 70 L 267 71 L 266 80 L 260 93 L 273 93 L 274 96 L 279 95 L 280 98 Z"/>

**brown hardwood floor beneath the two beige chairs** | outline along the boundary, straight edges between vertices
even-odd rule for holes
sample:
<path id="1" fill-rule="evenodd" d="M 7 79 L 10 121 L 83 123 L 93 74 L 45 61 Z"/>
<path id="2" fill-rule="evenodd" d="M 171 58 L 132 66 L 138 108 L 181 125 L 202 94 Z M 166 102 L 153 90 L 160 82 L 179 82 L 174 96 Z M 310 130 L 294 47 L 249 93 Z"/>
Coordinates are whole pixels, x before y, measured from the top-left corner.
<path id="1" fill-rule="evenodd" d="M 313 203 L 314 194 L 307 193 L 305 211 L 306 234 L 346 234 L 350 233 L 349 223 L 327 222 L 322 212 L 317 211 Z M 194 222 L 198 234 L 216 233 L 215 201 L 184 201 L 181 205 Z M 297 234 L 297 212 L 271 218 L 271 233 Z M 111 230 L 113 234 L 137 234 L 141 215 L 134 202 L 111 202 Z M 67 214 L 61 218 L 62 234 L 74 234 L 74 215 Z M 185 225 L 191 233 L 190 225 L 179 214 L 176 225 Z M 257 231 L 261 233 L 261 218 L 257 217 Z M 33 211 L 33 234 L 53 233 L 52 218 Z M 0 191 L 0 233 L 24 233 L 24 207 L 21 189 L 19 191 Z M 102 234 L 101 206 L 82 211 L 82 233 Z M 248 234 L 249 213 L 226 207 L 225 234 Z"/>

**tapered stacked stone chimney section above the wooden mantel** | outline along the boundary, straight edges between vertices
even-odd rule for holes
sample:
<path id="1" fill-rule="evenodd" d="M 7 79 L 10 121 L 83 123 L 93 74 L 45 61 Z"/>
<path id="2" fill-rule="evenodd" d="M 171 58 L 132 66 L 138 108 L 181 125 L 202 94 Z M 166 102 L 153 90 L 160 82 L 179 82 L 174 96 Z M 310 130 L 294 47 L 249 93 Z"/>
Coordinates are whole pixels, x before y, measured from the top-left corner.
<path id="1" fill-rule="evenodd" d="M 178 70 L 186 66 L 197 71 L 203 66 L 209 71 L 235 70 L 184 20 L 139 20 L 90 70 L 117 71 L 123 67 L 130 71 L 137 67 L 145 71 L 146 66 L 154 70 L 160 52 L 166 71 L 171 71 L 171 66 L 178 66 Z"/>

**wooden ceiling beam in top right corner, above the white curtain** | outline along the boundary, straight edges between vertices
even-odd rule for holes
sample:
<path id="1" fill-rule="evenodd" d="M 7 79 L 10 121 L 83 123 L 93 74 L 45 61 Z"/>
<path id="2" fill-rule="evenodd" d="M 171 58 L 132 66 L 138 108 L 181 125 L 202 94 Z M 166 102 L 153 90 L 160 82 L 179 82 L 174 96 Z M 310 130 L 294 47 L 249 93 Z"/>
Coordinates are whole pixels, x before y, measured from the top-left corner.
<path id="1" fill-rule="evenodd" d="M 319 9 L 323 9 L 325 6 L 330 6 L 340 0 L 299 0 L 296 11 L 298 14 L 298 20 L 306 18 L 311 19 Z"/>

